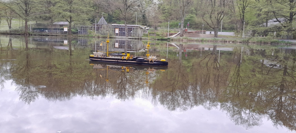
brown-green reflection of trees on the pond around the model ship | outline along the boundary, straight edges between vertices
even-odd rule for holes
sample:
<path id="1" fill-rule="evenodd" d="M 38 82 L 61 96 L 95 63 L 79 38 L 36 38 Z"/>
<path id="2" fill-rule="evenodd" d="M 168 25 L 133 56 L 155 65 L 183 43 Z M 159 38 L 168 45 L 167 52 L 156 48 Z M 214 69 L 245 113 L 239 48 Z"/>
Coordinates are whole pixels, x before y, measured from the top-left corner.
<path id="1" fill-rule="evenodd" d="M 233 51 L 218 51 L 218 46 L 213 46 L 202 56 L 202 51 L 188 52 L 185 59 L 180 45 L 178 57 L 171 53 L 174 57 L 169 69 L 147 73 L 149 68 L 90 67 L 80 55 L 83 52 L 77 52 L 75 41 L 71 41 L 70 51 L 52 46 L 30 48 L 28 44 L 14 50 L 11 42 L 1 51 L 1 89 L 5 81 L 12 80 L 27 104 L 39 96 L 49 101 L 77 95 L 94 100 L 107 96 L 122 101 L 144 98 L 170 111 L 220 108 L 235 124 L 246 128 L 261 125 L 268 116 L 275 126 L 296 130 L 296 56 L 291 49 L 237 46 Z M 2 60 L 11 57 L 16 61 Z"/>

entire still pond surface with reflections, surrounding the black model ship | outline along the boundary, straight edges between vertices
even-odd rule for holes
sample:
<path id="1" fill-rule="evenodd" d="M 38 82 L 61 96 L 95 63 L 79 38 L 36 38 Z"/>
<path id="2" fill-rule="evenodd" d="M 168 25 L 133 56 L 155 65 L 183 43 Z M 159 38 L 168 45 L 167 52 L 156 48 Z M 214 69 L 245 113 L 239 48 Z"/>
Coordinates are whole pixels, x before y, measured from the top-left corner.
<path id="1" fill-rule="evenodd" d="M 151 41 L 167 68 L 89 61 L 104 38 L 0 36 L 0 132 L 296 130 L 296 47 Z M 147 40 L 112 39 L 144 56 Z"/>

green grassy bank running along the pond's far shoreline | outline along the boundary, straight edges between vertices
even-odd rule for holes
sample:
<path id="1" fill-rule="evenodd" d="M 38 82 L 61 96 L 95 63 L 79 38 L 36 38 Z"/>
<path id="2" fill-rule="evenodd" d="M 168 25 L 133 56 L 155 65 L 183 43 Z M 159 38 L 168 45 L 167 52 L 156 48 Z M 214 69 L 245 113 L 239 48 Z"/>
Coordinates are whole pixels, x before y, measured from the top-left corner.
<path id="1" fill-rule="evenodd" d="M 39 23 L 39 22 L 38 22 Z M 47 22 L 41 22 L 39 25 L 43 24 L 46 25 Z M 29 25 L 36 24 L 36 22 L 29 22 Z M 3 33 L 3 34 L 15 34 L 20 35 L 23 34 L 22 30 L 19 29 L 20 27 L 24 26 L 24 21 L 19 19 L 13 19 L 12 20 L 12 29 L 10 30 L 10 33 Z M 1 25 L 0 25 L 0 31 L 7 31 L 9 30 L 7 22 L 2 19 Z M 172 40 L 172 41 L 200 41 L 200 42 L 233 42 L 233 43 L 267 43 L 267 44 L 295 44 L 292 42 L 286 42 L 286 41 L 279 41 L 278 39 L 274 39 L 271 37 L 249 37 L 249 38 L 237 38 L 236 36 L 231 35 L 219 35 L 219 38 L 190 38 L 190 37 L 175 37 L 175 38 L 167 38 L 164 35 L 167 35 L 167 33 L 163 33 L 163 30 L 159 31 L 152 31 L 149 30 L 149 38 L 151 40 Z M 1 32 L 0 32 L 1 33 Z M 170 31 L 170 35 L 176 34 L 177 31 Z M 45 33 L 45 32 L 29 32 L 30 35 L 49 35 L 49 36 L 67 36 L 66 34 L 59 34 L 59 33 Z M 95 34 L 94 32 L 89 32 L 88 35 L 73 35 L 73 36 L 79 36 L 79 37 L 91 37 L 91 38 L 106 38 L 107 35 L 100 35 Z M 142 36 L 142 39 L 147 39 L 148 34 L 144 34 Z M 110 35 L 110 38 L 115 38 L 112 35 Z M 141 39 L 141 38 L 133 38 L 130 39 Z"/>

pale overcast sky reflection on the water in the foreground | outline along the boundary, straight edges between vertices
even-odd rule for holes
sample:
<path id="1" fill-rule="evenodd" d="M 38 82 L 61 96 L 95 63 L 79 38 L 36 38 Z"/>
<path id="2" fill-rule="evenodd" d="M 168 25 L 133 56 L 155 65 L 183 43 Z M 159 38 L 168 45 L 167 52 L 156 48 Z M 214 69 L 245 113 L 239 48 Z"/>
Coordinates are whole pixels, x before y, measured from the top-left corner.
<path id="1" fill-rule="evenodd" d="M 77 96 L 50 102 L 39 96 L 28 105 L 19 100 L 11 81 L 7 81 L 4 88 L 0 92 L 1 133 L 291 132 L 282 127 L 276 129 L 266 119 L 261 126 L 246 129 L 235 125 L 219 109 L 206 110 L 198 106 L 187 111 L 168 111 L 141 98 L 120 101 L 110 97 L 92 100 Z"/>

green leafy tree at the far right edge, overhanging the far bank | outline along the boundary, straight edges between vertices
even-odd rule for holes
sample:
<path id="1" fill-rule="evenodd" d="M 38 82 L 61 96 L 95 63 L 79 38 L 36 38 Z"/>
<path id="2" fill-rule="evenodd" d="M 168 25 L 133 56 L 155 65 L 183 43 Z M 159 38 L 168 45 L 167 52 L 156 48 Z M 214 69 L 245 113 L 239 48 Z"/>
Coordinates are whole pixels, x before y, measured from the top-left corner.
<path id="1" fill-rule="evenodd" d="M 296 2 L 287 0 L 256 1 L 257 19 L 252 22 L 252 30 L 257 35 L 268 35 L 268 32 L 278 32 L 287 39 L 293 39 L 295 34 Z"/>

